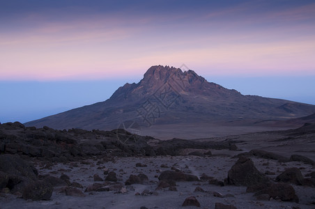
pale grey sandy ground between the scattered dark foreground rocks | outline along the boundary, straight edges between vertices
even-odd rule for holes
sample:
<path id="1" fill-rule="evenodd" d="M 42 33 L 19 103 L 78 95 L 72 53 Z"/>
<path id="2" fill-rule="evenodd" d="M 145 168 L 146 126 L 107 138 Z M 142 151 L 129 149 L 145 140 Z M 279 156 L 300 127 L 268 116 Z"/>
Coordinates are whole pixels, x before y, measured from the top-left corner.
<path id="1" fill-rule="evenodd" d="M 59 193 L 59 187 L 54 188 L 51 200 L 49 201 L 25 201 L 17 198 L 14 195 L 6 194 L 5 197 L 0 197 L 0 208 L 183 208 L 183 201 L 188 196 L 196 196 L 201 208 L 215 208 L 215 203 L 232 204 L 237 208 L 292 208 L 299 206 L 300 208 L 315 208 L 310 204 L 315 201 L 315 188 L 302 187 L 293 185 L 295 192 L 300 198 L 300 203 L 282 202 L 277 200 L 257 201 L 252 193 L 246 193 L 246 187 L 236 186 L 216 186 L 209 185 L 208 182 L 185 182 L 177 183 L 177 192 L 164 190 L 156 190 L 160 172 L 170 170 L 171 167 L 181 169 L 185 173 L 191 173 L 196 176 L 201 176 L 206 173 L 208 176 L 213 176 L 218 180 L 226 178 L 229 169 L 236 162 L 237 158 L 231 156 L 241 153 L 240 151 L 229 150 L 211 150 L 213 157 L 197 157 L 197 156 L 162 156 L 162 157 L 123 157 L 115 158 L 110 162 L 100 164 L 98 160 L 87 160 L 90 164 L 81 164 L 77 162 L 78 167 L 74 167 L 74 163 L 56 163 L 51 168 L 43 168 L 45 164 L 38 162 L 36 167 L 41 175 L 49 173 L 51 176 L 58 177 L 62 173 L 70 177 L 70 181 L 80 183 L 84 189 L 94 182 L 93 175 L 98 174 L 101 178 L 105 178 L 103 174 L 104 167 L 109 171 L 117 173 L 118 182 L 125 183 L 130 174 L 144 173 L 148 176 L 148 182 L 144 185 L 132 185 L 128 187 L 129 191 L 125 194 L 115 192 L 85 192 L 84 197 L 66 196 L 64 193 Z M 279 163 L 275 160 L 264 160 L 252 157 L 254 164 L 259 171 L 275 172 L 275 175 L 269 176 L 275 179 L 279 173 L 288 167 L 298 167 L 301 169 L 303 176 L 306 173 L 315 171 L 315 168 L 309 164 L 300 162 Z M 136 167 L 136 163 L 146 164 L 147 167 Z M 169 168 L 161 168 L 161 164 L 169 166 Z M 100 167 L 102 169 L 100 169 Z M 194 192 L 196 187 L 201 187 L 206 192 Z M 81 189 L 84 192 L 84 189 Z M 137 192 L 141 193 L 144 189 L 148 189 L 157 194 L 148 196 L 136 196 Z M 134 190 L 134 191 L 133 191 Z M 231 194 L 229 197 L 216 197 L 213 192 L 220 192 L 223 195 Z M 196 207 L 185 207 L 196 208 Z"/>

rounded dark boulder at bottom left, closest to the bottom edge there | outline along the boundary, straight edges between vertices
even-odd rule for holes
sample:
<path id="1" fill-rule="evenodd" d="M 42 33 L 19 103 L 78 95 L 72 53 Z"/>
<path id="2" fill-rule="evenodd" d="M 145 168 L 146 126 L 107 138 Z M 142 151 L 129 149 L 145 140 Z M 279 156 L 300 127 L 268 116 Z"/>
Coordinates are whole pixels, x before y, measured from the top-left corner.
<path id="1" fill-rule="evenodd" d="M 22 194 L 23 199 L 31 199 L 33 201 L 49 200 L 51 196 L 52 185 L 43 180 L 38 180 L 27 185 Z"/>

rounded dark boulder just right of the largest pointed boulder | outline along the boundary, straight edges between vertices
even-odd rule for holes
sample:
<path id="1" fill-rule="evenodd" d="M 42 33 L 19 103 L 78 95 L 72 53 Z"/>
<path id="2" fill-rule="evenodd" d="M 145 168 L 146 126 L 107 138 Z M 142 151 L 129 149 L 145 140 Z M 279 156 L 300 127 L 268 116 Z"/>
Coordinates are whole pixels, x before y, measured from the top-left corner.
<path id="1" fill-rule="evenodd" d="M 298 168 L 286 169 L 279 176 L 276 177 L 276 181 L 283 183 L 293 183 L 295 185 L 302 185 L 303 176 Z"/>

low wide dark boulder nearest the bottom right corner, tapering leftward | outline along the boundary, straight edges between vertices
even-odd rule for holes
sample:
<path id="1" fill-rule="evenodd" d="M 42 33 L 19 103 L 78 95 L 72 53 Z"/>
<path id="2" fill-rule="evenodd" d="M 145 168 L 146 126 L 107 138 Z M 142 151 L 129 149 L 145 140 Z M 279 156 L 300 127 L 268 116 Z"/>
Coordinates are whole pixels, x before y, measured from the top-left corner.
<path id="1" fill-rule="evenodd" d="M 281 199 L 282 201 L 295 201 L 298 203 L 298 196 L 295 194 L 294 188 L 286 183 L 271 184 L 254 195 L 259 196 L 261 194 L 269 194 L 269 196 L 273 199 Z"/>

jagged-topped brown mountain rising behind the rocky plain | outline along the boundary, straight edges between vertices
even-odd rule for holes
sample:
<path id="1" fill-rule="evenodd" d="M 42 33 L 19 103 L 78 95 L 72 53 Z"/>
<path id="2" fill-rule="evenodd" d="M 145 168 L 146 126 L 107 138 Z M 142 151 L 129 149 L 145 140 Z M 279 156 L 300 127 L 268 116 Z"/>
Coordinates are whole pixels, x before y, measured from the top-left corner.
<path id="1" fill-rule="evenodd" d="M 25 123 L 55 129 L 110 130 L 124 121 L 141 127 L 166 124 L 240 123 L 286 120 L 315 113 L 315 106 L 288 100 L 242 95 L 207 82 L 193 70 L 156 65 L 138 84 L 125 84 L 111 98 Z"/>

